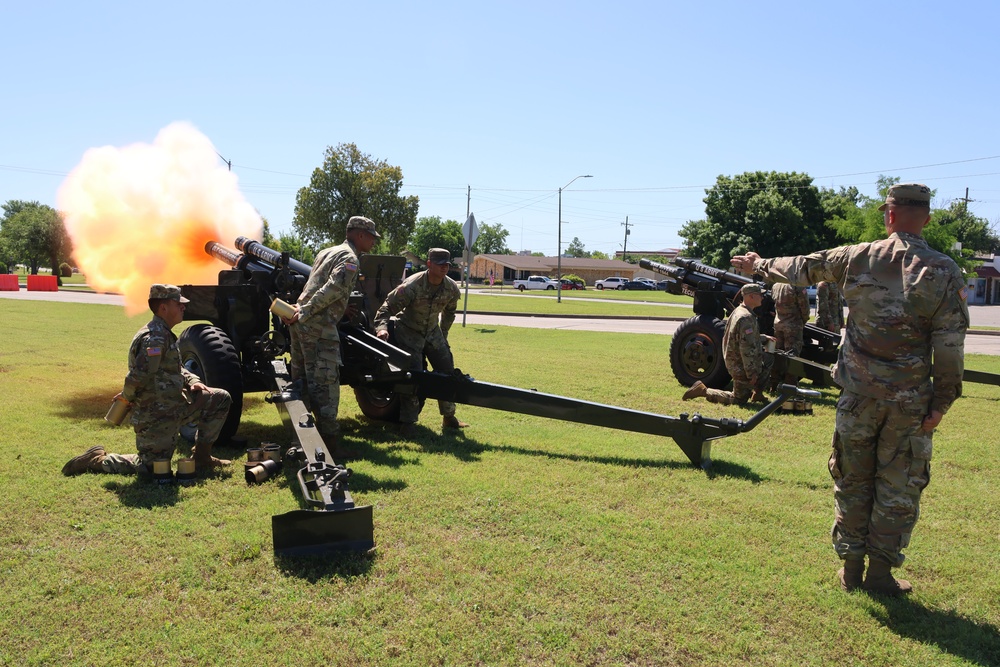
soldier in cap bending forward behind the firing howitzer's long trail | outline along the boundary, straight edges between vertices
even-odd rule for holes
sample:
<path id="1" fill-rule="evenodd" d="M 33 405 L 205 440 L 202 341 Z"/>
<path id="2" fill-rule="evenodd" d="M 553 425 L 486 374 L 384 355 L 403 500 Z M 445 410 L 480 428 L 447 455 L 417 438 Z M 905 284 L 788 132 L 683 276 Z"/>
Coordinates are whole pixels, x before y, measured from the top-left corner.
<path id="1" fill-rule="evenodd" d="M 458 283 L 448 277 L 451 253 L 444 248 L 427 251 L 427 270 L 404 280 L 386 297 L 375 314 L 375 335 L 389 339 L 389 320 L 393 320 L 393 337 L 399 347 L 412 356 L 411 368 L 423 368 L 424 355 L 435 371 L 450 373 L 455 360 L 448 346 L 448 329 L 455 321 L 455 310 L 461 291 Z M 414 394 L 401 395 L 399 421 L 404 435 L 413 433 L 413 424 L 420 415 L 420 401 Z M 444 428 L 468 426 L 455 416 L 455 404 L 438 401 Z"/>

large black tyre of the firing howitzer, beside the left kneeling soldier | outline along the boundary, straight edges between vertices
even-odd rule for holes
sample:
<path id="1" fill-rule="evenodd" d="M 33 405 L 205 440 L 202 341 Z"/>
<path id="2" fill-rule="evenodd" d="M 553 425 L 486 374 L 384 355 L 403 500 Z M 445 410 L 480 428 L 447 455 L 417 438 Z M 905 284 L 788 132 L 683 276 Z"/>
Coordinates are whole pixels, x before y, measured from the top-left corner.
<path id="1" fill-rule="evenodd" d="M 226 332 L 210 324 L 188 327 L 178 340 L 181 364 L 209 387 L 225 389 L 233 399 L 226 423 L 219 434 L 219 444 L 229 442 L 240 427 L 243 414 L 243 372 L 237 354 Z"/>

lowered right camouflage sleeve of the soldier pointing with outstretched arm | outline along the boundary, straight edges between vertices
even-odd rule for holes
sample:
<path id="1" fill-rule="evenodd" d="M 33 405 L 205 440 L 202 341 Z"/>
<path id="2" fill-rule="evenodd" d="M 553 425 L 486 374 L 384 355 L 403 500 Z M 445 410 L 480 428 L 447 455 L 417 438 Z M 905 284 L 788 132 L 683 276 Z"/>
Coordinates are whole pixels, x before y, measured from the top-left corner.
<path id="1" fill-rule="evenodd" d="M 965 370 L 965 331 L 969 328 L 966 286 L 957 267 L 948 281 L 947 293 L 931 322 L 931 377 L 934 397 L 931 410 L 948 412 L 962 395 Z"/>

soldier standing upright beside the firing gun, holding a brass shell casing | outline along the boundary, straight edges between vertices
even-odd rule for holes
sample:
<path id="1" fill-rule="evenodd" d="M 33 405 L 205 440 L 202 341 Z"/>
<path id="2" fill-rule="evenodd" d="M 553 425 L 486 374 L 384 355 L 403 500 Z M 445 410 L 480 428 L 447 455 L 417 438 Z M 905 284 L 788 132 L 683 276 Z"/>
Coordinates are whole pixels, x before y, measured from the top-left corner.
<path id="1" fill-rule="evenodd" d="M 347 239 L 316 256 L 309 280 L 293 306 L 295 314 L 282 318 L 291 336 L 291 375 L 305 382 L 309 409 L 330 455 L 353 456 L 339 448 L 340 333 L 337 323 L 347 311 L 347 299 L 358 278 L 358 257 L 369 252 L 381 236 L 375 223 L 356 215 L 347 222 Z"/>

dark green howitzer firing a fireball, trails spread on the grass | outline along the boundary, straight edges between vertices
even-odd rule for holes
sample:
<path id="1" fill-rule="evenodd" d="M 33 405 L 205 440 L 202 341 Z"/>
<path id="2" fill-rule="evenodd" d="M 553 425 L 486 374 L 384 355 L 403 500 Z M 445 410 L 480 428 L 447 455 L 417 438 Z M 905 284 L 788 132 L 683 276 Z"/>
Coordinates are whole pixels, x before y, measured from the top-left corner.
<path id="1" fill-rule="evenodd" d="M 364 550 L 374 545 L 372 508 L 358 507 L 350 494 L 351 471 L 330 455 L 316 430 L 313 416 L 293 383 L 284 355 L 288 329 L 271 315 L 274 298 L 294 303 L 311 267 L 240 237 L 237 250 L 209 242 L 205 250 L 229 268 L 218 285 L 184 285 L 190 299 L 185 319 L 195 324 L 180 338 L 182 361 L 211 386 L 233 397 L 220 439 L 235 434 L 245 392 L 268 392 L 283 422 L 294 435 L 289 452 L 301 466 L 296 472 L 305 509 L 272 517 L 274 550 L 280 554 Z M 779 399 L 750 419 L 680 417 L 603 405 L 529 389 L 478 382 L 461 371 L 436 373 L 411 370 L 405 350 L 374 335 L 371 322 L 386 295 L 403 279 L 402 257 L 365 255 L 360 260 L 360 291 L 351 295 L 353 315 L 338 325 L 341 343 L 341 383 L 354 389 L 362 412 L 373 419 L 398 421 L 399 395 L 416 393 L 421 400 L 445 399 L 496 410 L 537 415 L 607 428 L 672 438 L 697 466 L 711 463 L 714 440 L 749 431 L 790 396 L 801 395 L 788 385 Z M 287 457 L 286 457 L 287 460 Z"/>

